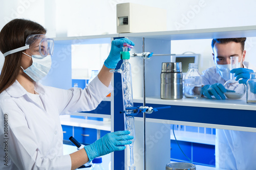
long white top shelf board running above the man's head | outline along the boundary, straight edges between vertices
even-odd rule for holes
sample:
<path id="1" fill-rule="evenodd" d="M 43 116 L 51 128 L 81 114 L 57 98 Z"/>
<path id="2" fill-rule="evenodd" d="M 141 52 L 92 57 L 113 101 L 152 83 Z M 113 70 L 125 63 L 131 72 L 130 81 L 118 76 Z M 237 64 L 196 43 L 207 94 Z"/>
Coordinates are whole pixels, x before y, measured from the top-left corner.
<path id="1" fill-rule="evenodd" d="M 212 38 L 230 38 L 230 37 L 256 37 L 256 26 L 243 27 L 224 27 L 224 28 L 208 28 L 194 30 L 173 30 L 173 31 L 158 31 L 158 32 L 141 32 L 141 33 L 116 33 L 105 35 L 88 35 L 88 36 L 73 36 L 73 37 L 55 37 L 57 41 L 74 40 L 89 40 L 100 38 L 115 38 L 115 37 L 145 37 L 165 40 L 185 40 L 185 39 L 212 39 Z M 75 43 L 74 43 L 75 44 Z"/>

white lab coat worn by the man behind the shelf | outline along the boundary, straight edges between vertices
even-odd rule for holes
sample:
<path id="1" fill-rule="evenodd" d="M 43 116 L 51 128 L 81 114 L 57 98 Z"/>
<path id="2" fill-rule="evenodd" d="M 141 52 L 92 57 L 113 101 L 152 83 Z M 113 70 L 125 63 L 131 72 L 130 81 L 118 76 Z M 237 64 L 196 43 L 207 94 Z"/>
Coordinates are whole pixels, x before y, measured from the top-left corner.
<path id="1" fill-rule="evenodd" d="M 244 62 L 244 68 L 256 67 Z M 221 83 L 225 80 L 210 67 L 202 72 L 202 84 Z M 256 133 L 216 129 L 216 167 L 223 169 L 256 169 Z"/>

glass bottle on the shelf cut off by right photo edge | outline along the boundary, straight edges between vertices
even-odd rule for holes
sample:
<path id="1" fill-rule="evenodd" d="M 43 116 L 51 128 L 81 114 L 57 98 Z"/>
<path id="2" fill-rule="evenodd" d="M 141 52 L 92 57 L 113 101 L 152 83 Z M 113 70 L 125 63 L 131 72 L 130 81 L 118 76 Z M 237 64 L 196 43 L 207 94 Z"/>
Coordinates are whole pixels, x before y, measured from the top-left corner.
<path id="1" fill-rule="evenodd" d="M 256 104 L 256 72 L 251 72 L 247 81 L 246 103 Z"/>

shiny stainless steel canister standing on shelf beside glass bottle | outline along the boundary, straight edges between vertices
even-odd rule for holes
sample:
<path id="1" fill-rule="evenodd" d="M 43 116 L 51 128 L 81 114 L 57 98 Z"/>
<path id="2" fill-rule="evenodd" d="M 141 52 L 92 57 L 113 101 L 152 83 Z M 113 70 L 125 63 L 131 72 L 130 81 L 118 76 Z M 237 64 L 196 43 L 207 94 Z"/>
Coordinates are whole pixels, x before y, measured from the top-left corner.
<path id="1" fill-rule="evenodd" d="M 162 63 L 161 99 L 182 99 L 181 62 Z"/>

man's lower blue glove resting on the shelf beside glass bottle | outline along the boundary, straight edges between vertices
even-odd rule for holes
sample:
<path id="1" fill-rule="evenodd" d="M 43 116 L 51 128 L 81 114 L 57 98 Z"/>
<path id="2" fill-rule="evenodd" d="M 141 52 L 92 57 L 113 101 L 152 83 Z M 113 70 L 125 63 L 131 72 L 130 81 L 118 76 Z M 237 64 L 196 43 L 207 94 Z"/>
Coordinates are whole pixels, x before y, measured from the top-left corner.
<path id="1" fill-rule="evenodd" d="M 224 93 L 227 91 L 232 91 L 232 90 L 227 90 L 221 83 L 215 83 L 212 85 L 205 85 L 202 87 L 201 93 L 205 95 L 208 99 L 212 99 L 211 95 L 214 95 L 216 99 L 226 99 Z"/>

